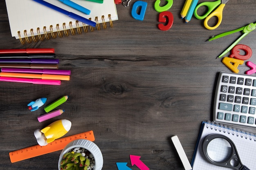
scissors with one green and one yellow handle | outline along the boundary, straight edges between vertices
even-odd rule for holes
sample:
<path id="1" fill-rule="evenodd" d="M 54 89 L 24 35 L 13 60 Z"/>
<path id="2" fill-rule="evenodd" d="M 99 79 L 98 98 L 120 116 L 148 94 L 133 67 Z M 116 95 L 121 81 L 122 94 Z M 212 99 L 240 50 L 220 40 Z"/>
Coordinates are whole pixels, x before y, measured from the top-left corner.
<path id="1" fill-rule="evenodd" d="M 229 0 L 217 0 L 217 1 L 213 1 L 213 2 L 202 2 L 202 3 L 198 4 L 198 6 L 195 7 L 195 11 L 194 11 L 195 18 L 197 18 L 198 20 L 202 20 L 205 18 L 204 26 L 205 26 L 205 28 L 207 28 L 209 30 L 218 28 L 218 26 L 220 26 L 220 23 L 222 21 L 223 9 L 228 1 Z M 198 11 L 198 8 L 200 8 L 202 6 L 206 6 L 208 8 L 208 11 L 204 15 L 200 16 L 200 15 L 198 15 L 197 11 Z M 211 18 L 213 18 L 214 16 L 216 16 L 218 18 L 218 22 L 215 26 L 209 26 L 208 21 Z"/>

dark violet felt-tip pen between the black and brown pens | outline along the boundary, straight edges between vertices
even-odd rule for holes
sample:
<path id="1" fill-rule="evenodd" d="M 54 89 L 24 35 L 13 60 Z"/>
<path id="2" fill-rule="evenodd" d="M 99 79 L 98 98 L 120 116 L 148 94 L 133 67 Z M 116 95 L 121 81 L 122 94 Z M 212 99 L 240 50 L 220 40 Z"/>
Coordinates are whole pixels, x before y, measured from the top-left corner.
<path id="1" fill-rule="evenodd" d="M 58 59 L 0 59 L 0 63 L 38 63 L 38 64 L 58 64 Z"/>

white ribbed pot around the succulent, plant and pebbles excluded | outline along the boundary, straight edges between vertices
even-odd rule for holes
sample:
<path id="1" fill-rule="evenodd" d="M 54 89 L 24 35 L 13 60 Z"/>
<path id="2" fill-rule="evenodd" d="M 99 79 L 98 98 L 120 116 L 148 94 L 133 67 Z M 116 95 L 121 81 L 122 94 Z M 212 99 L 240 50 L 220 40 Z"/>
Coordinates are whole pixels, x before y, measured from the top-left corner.
<path id="1" fill-rule="evenodd" d="M 67 146 L 65 146 L 65 148 L 62 150 L 61 155 L 58 159 L 58 170 L 61 170 L 61 161 L 62 161 L 62 157 L 63 155 L 73 149 L 73 148 L 85 148 L 86 150 L 88 150 L 94 157 L 95 160 L 95 168 L 94 170 L 101 170 L 103 167 L 103 156 L 101 153 L 101 150 L 99 149 L 99 147 L 94 144 L 92 141 L 88 141 L 85 139 L 78 139 L 78 140 L 74 140 L 72 142 L 70 142 L 69 144 L 67 144 Z"/>

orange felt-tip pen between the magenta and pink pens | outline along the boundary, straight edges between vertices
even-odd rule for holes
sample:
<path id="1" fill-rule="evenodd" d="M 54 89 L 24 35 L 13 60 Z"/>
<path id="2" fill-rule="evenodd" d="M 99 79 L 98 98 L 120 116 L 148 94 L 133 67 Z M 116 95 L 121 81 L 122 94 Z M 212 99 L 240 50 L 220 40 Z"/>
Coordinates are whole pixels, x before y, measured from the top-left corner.
<path id="1" fill-rule="evenodd" d="M 69 75 L 8 73 L 8 72 L 1 72 L 0 73 L 0 77 L 18 77 L 18 78 L 31 78 L 31 79 L 70 80 L 70 76 Z"/>

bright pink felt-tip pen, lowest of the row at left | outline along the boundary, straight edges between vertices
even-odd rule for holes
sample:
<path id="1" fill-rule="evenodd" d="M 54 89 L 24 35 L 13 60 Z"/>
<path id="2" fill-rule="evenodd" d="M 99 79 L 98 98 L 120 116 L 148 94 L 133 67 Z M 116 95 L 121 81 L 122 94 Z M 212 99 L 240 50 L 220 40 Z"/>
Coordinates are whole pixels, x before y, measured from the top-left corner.
<path id="1" fill-rule="evenodd" d="M 61 85 L 60 80 L 52 80 L 52 79 L 27 79 L 27 78 L 16 78 L 16 77 L 0 77 L 0 81 L 32 83 L 32 84 L 47 84 L 47 85 Z"/>

